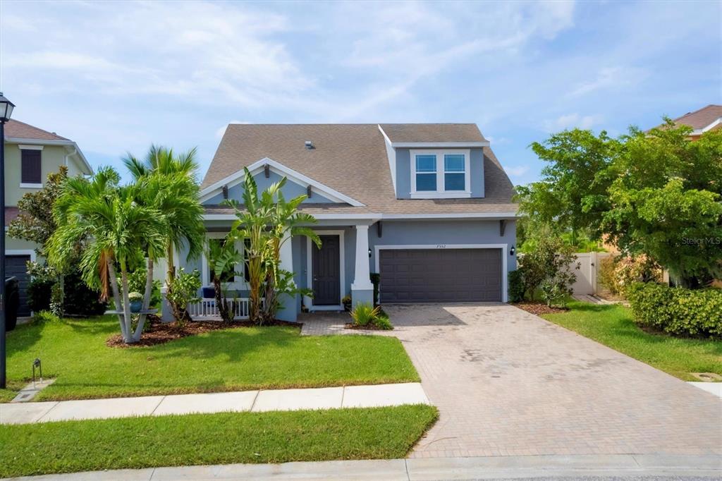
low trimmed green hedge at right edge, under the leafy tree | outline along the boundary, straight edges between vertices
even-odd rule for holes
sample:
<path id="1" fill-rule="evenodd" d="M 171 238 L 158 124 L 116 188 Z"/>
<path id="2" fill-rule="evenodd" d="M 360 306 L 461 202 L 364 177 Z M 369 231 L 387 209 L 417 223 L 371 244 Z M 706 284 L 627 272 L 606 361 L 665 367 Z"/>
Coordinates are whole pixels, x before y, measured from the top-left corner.
<path id="1" fill-rule="evenodd" d="M 640 326 L 674 336 L 722 337 L 722 290 L 635 282 L 627 298 Z"/>

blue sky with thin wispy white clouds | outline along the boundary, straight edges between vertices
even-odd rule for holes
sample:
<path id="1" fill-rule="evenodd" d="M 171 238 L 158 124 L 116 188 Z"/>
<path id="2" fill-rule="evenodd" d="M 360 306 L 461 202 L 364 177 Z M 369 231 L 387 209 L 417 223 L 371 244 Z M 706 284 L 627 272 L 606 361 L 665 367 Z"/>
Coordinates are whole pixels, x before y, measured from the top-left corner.
<path id="1" fill-rule="evenodd" d="M 94 167 L 229 122 L 474 122 L 514 183 L 576 126 L 621 134 L 722 103 L 722 3 L 0 3 L 14 118 Z"/>

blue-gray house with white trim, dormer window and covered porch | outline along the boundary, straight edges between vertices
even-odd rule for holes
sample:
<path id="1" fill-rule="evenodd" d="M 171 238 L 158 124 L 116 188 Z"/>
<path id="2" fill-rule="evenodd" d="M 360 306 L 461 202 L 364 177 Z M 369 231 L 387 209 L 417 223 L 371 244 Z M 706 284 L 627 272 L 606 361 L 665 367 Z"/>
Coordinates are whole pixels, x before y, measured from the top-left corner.
<path id="1" fill-rule="evenodd" d="M 201 184 L 209 242 L 235 220 L 223 201 L 241 202 L 244 167 L 259 189 L 287 177 L 284 196 L 308 194 L 300 209 L 318 220 L 320 249 L 293 238 L 282 251 L 313 298 L 287 299 L 279 318 L 372 302 L 372 272 L 382 303 L 507 300 L 517 205 L 475 124 L 231 124 Z M 205 258 L 184 267 L 211 285 Z M 239 297 L 243 268 L 227 286 Z"/>

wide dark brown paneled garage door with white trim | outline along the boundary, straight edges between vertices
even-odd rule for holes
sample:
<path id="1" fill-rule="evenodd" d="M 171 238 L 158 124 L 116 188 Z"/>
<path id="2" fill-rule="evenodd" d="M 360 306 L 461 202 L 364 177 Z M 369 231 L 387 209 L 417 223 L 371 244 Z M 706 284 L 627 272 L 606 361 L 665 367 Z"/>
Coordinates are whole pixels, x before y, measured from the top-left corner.
<path id="1" fill-rule="evenodd" d="M 386 303 L 502 300 L 501 249 L 382 249 Z"/>

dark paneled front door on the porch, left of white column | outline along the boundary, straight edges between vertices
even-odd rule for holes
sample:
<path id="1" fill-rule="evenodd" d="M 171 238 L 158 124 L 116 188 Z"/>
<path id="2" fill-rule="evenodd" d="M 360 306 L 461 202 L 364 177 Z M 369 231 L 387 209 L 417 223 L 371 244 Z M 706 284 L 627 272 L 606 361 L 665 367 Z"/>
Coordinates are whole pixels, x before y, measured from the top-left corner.
<path id="1" fill-rule="evenodd" d="M 321 249 L 313 245 L 313 305 L 341 303 L 339 236 L 320 235 Z"/>

